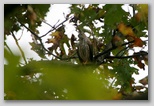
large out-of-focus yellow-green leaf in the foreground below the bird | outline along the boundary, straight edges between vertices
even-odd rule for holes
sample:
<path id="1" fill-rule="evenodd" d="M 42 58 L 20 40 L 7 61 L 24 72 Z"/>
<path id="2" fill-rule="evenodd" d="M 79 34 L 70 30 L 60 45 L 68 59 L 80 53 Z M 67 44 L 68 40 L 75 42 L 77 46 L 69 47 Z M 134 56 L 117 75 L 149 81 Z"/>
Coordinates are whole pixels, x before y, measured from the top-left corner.
<path id="1" fill-rule="evenodd" d="M 117 91 L 107 88 L 108 83 L 104 83 L 105 79 L 99 79 L 101 75 L 94 73 L 95 68 L 94 65 L 82 66 L 61 61 L 30 62 L 16 70 L 16 75 L 22 76 L 20 80 L 19 77 L 9 77 L 11 83 L 6 83 L 14 84 L 14 89 L 5 90 L 5 99 L 111 100 Z M 41 73 L 39 77 L 38 73 Z M 14 98 L 9 97 L 10 92 L 15 95 Z"/>

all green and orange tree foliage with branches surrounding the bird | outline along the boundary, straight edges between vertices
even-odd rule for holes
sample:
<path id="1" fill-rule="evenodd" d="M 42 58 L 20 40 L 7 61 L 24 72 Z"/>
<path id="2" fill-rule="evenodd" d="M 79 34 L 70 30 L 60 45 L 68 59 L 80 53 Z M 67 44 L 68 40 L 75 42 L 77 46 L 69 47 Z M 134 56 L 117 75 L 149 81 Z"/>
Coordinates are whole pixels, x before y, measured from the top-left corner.
<path id="1" fill-rule="evenodd" d="M 132 76 L 148 66 L 148 5 L 129 4 L 129 12 L 123 6 L 72 4 L 65 20 L 52 26 L 44 21 L 48 4 L 5 4 L 4 99 L 148 99 L 148 77 L 137 86 Z M 42 23 L 51 27 L 44 35 L 37 29 Z M 69 36 L 66 23 L 73 25 L 77 34 Z M 31 33 L 33 42 L 29 44 L 40 61 L 24 55 L 15 35 L 21 28 Z M 14 38 L 21 56 L 11 51 L 7 36 Z M 80 36 L 90 42 L 92 61 L 80 61 Z M 44 37 L 48 37 L 45 43 Z M 21 58 L 25 63 L 21 64 Z"/>

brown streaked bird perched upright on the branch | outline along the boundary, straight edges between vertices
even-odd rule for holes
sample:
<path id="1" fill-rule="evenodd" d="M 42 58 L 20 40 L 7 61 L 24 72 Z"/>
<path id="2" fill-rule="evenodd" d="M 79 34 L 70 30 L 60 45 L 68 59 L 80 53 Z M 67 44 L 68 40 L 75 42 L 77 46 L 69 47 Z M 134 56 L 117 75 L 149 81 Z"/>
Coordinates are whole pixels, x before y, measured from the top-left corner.
<path id="1" fill-rule="evenodd" d="M 93 61 L 93 47 L 90 39 L 79 30 L 79 44 L 77 48 L 77 55 L 82 64 L 88 64 Z"/>

